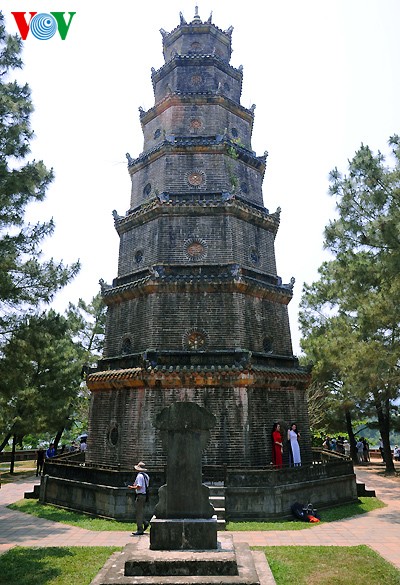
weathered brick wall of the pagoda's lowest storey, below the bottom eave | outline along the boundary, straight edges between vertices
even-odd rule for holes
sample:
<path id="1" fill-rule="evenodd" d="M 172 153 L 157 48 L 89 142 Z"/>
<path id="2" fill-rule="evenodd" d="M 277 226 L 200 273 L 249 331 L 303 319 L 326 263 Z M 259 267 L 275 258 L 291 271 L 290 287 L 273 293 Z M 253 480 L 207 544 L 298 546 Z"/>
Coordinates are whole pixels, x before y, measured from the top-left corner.
<path id="1" fill-rule="evenodd" d="M 157 414 L 178 400 L 196 402 L 210 410 L 217 419 L 203 455 L 204 464 L 267 466 L 271 462 L 271 430 L 280 421 L 285 435 L 296 422 L 301 431 L 303 460 L 310 459 L 311 445 L 307 409 L 303 392 L 293 386 L 276 388 L 179 388 L 123 389 L 96 391 L 96 416 L 91 416 L 90 462 L 120 464 L 144 460 L 148 465 L 165 463 L 158 431 Z M 118 424 L 119 441 L 113 446 L 109 431 Z M 284 460 L 288 445 L 284 441 Z"/>

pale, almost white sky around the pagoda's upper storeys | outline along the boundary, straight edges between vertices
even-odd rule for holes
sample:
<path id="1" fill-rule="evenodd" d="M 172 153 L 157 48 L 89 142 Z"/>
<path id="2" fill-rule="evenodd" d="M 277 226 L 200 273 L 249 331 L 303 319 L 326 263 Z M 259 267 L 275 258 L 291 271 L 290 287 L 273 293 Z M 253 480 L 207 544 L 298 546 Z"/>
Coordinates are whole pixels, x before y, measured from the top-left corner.
<path id="1" fill-rule="evenodd" d="M 256 104 L 252 147 L 268 150 L 264 203 L 282 208 L 278 273 L 296 278 L 289 305 L 299 353 L 298 303 L 326 253 L 323 229 L 334 215 L 329 171 L 345 171 L 363 142 L 387 152 L 400 134 L 398 0 L 249 0 L 197 2 L 222 29 L 234 27 L 231 64 L 243 65 L 241 103 Z M 117 274 L 118 237 L 111 212 L 129 208 L 125 153 L 143 147 L 138 108 L 152 107 L 151 67 L 163 64 L 160 28 L 172 30 L 195 2 L 161 0 L 3 0 L 12 11 L 75 11 L 68 36 L 24 41 L 18 74 L 32 89 L 32 156 L 53 167 L 55 181 L 31 221 L 54 217 L 44 253 L 82 270 L 55 301 L 90 300 L 100 278 Z"/>

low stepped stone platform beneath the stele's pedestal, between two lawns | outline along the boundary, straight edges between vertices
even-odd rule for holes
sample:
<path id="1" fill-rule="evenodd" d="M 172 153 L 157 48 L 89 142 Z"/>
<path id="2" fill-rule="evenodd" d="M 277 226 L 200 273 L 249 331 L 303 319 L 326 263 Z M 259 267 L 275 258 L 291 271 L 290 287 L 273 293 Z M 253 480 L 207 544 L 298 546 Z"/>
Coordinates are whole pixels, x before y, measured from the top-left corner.
<path id="1" fill-rule="evenodd" d="M 218 538 L 215 551 L 151 551 L 146 537 L 114 553 L 90 585 L 269 585 L 274 583 L 263 553 L 232 536 Z"/>

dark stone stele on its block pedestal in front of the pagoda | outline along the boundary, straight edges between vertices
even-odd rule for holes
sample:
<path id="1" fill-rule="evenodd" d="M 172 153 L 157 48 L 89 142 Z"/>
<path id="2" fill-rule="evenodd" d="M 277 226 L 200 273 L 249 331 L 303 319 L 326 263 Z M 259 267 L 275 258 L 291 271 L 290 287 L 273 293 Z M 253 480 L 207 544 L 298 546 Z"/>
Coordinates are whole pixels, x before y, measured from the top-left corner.
<path id="1" fill-rule="evenodd" d="M 156 419 L 167 455 L 167 483 L 151 521 L 152 550 L 217 548 L 217 519 L 202 484 L 201 454 L 215 417 L 194 402 L 175 402 Z"/>

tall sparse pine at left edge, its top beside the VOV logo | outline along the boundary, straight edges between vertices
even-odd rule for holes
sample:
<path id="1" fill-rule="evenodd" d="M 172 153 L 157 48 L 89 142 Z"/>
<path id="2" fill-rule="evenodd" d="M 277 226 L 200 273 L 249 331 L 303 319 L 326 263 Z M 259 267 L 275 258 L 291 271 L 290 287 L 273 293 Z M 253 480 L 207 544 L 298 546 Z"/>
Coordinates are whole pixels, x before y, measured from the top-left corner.
<path id="1" fill-rule="evenodd" d="M 24 220 L 27 205 L 42 201 L 53 172 L 42 161 L 27 160 L 33 137 L 28 85 L 10 80 L 22 67 L 22 41 L 6 33 L 0 12 L 0 342 L 28 312 L 54 294 L 78 272 L 55 260 L 42 260 L 40 245 L 54 230 L 52 220 L 36 225 Z"/>

